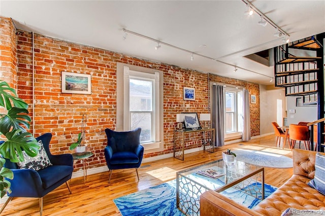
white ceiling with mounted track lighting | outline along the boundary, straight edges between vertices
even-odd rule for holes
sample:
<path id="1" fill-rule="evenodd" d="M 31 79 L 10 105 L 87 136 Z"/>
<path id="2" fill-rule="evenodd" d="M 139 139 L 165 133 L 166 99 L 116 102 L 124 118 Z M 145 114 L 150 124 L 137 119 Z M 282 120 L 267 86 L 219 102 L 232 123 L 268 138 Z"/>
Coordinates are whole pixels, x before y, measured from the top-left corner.
<path id="1" fill-rule="evenodd" d="M 290 41 L 325 31 L 324 0 L 255 0 L 250 3 L 286 31 Z M 274 77 L 273 66 L 256 63 L 244 56 L 281 45 L 283 37 L 274 37 L 276 29 L 272 25 L 258 25 L 261 18 L 257 14 L 246 16 L 245 11 L 246 4 L 241 0 L 0 1 L 0 14 L 11 17 L 19 29 L 270 85 L 270 78 Z M 124 40 L 123 28 L 189 52 L 164 44 L 155 50 L 155 41 L 132 33 Z M 232 65 L 238 66 L 236 72 Z"/>

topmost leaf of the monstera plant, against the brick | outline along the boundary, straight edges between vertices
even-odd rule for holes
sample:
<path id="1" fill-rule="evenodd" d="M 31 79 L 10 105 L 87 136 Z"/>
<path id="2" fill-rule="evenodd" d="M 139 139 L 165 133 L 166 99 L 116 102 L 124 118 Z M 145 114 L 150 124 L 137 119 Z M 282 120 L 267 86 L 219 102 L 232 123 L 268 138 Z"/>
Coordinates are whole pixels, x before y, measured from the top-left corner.
<path id="1" fill-rule="evenodd" d="M 10 88 L 9 84 L 5 81 L 0 81 L 0 105 L 6 107 L 7 110 L 10 110 L 13 106 L 24 109 L 28 107 L 25 101 L 17 97 L 15 89 Z"/>

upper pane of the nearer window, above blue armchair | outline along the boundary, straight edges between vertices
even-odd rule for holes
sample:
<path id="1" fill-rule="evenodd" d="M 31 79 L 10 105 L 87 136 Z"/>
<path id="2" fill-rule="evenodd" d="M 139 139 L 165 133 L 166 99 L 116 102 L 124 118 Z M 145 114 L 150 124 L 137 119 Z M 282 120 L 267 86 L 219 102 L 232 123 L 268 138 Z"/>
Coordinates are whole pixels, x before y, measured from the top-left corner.
<path id="1" fill-rule="evenodd" d="M 130 111 L 152 111 L 152 82 L 130 79 Z"/>

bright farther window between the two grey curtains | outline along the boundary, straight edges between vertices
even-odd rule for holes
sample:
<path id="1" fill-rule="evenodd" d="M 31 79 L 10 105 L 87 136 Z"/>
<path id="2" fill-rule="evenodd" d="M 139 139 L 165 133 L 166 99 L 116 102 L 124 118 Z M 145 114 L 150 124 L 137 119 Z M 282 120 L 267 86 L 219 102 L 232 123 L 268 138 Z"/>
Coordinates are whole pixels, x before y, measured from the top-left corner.
<path id="1" fill-rule="evenodd" d="M 236 88 L 225 88 L 225 133 L 243 131 L 243 92 Z"/>

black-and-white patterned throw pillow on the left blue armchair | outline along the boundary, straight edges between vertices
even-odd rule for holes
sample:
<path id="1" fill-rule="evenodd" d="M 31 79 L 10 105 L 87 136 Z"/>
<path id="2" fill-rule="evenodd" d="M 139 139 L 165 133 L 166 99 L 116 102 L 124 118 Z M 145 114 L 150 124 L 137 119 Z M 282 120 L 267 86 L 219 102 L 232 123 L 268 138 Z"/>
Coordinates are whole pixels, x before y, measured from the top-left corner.
<path id="1" fill-rule="evenodd" d="M 40 140 L 38 143 L 40 145 L 40 149 L 39 154 L 36 157 L 30 157 L 25 151 L 22 151 L 25 160 L 17 163 L 20 169 L 34 169 L 37 171 L 52 165 L 45 152 L 42 140 Z"/>

